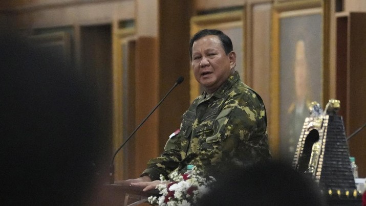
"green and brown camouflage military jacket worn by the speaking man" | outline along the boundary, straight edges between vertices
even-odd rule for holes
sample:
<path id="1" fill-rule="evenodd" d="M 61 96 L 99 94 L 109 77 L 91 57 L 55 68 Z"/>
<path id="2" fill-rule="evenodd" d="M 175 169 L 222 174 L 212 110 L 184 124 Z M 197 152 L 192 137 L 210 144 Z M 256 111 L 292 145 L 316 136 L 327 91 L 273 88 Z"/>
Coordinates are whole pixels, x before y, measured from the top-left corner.
<path id="1" fill-rule="evenodd" d="M 183 114 L 180 132 L 171 137 L 163 153 L 142 173 L 152 180 L 195 165 L 202 171 L 221 163 L 251 164 L 270 157 L 263 101 L 245 85 L 238 72 L 212 95 L 197 97 Z"/>

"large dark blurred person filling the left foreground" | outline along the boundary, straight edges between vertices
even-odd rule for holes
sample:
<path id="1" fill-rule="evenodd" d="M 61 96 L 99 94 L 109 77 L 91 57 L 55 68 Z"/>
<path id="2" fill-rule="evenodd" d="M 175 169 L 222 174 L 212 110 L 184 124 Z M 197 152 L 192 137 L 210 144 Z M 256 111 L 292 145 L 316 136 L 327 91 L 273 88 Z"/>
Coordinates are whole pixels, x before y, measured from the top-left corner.
<path id="1" fill-rule="evenodd" d="M 90 205 L 105 155 L 90 87 L 58 54 L 1 28 L 1 204 Z"/>

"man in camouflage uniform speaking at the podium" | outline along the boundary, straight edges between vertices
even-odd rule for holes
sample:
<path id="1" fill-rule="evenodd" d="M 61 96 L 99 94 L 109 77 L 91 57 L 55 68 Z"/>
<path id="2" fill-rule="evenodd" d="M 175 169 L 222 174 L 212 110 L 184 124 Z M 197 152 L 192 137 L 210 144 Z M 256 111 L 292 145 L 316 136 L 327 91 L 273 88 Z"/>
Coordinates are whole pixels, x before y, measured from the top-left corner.
<path id="1" fill-rule="evenodd" d="M 190 40 L 193 74 L 205 91 L 183 114 L 180 130 L 163 153 L 147 164 L 134 185 L 155 188 L 160 174 L 185 171 L 187 165 L 211 172 L 222 163 L 245 166 L 270 158 L 263 101 L 234 70 L 236 55 L 228 36 L 202 30 Z M 128 181 L 128 180 L 127 180 Z"/>

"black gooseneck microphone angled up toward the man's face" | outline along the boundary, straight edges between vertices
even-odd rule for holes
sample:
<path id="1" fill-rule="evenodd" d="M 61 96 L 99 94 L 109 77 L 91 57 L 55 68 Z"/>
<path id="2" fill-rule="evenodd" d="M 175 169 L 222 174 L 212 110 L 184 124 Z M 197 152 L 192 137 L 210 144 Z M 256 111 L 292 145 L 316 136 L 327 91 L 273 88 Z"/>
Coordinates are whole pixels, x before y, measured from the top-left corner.
<path id="1" fill-rule="evenodd" d="M 150 113 L 145 117 L 144 120 L 142 120 L 142 122 L 139 124 L 139 126 L 136 127 L 136 129 L 130 134 L 130 136 L 128 136 L 128 138 L 123 142 L 123 144 L 115 151 L 113 157 L 112 157 L 112 162 L 110 165 L 110 173 L 109 173 L 109 177 L 110 177 L 110 184 L 114 184 L 114 159 L 117 155 L 117 153 L 123 148 L 123 146 L 128 142 L 128 140 L 130 140 L 132 138 L 132 136 L 136 133 L 136 131 L 142 126 L 142 124 L 147 120 L 147 118 L 149 118 L 152 113 L 158 108 L 158 106 L 164 101 L 164 99 L 170 94 L 170 92 L 180 83 L 182 83 L 184 80 L 184 77 L 180 76 L 178 77 L 176 83 L 173 85 L 173 87 L 170 88 L 170 90 L 166 93 L 166 95 L 163 97 L 163 99 L 160 100 L 160 102 L 154 107 L 154 109 L 152 111 L 150 111 Z"/>

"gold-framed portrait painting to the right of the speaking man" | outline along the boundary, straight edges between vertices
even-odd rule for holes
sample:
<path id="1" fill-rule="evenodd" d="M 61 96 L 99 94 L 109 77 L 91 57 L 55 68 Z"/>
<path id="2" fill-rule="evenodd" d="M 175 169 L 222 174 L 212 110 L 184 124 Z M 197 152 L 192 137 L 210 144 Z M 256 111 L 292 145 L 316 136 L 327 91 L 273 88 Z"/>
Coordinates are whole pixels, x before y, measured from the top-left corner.
<path id="1" fill-rule="evenodd" d="M 327 95 L 328 35 L 324 1 L 281 2 L 272 9 L 272 152 L 291 163 L 308 103 Z M 328 93 L 327 93 L 328 94 Z"/>

